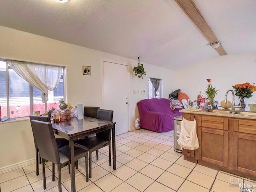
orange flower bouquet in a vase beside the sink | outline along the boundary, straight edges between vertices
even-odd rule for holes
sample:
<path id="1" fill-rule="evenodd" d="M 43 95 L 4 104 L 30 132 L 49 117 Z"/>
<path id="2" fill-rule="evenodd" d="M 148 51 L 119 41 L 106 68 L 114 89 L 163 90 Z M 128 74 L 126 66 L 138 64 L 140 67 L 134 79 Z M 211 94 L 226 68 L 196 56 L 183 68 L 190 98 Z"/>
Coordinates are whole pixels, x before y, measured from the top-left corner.
<path id="1" fill-rule="evenodd" d="M 248 82 L 243 84 L 236 84 L 232 87 L 235 89 L 236 96 L 240 98 L 250 98 L 252 97 L 252 93 L 256 91 L 256 86 L 251 85 Z"/>

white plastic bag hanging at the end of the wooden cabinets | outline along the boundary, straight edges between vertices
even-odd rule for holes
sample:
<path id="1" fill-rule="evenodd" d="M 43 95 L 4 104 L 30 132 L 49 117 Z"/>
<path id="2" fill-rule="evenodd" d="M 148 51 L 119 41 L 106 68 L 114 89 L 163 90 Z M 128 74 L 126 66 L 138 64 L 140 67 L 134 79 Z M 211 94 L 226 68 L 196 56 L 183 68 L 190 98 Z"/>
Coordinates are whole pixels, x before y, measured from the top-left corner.
<path id="1" fill-rule="evenodd" d="M 196 120 L 188 121 L 183 118 L 180 126 L 180 138 L 177 142 L 184 149 L 195 150 L 199 148 L 196 135 Z"/>

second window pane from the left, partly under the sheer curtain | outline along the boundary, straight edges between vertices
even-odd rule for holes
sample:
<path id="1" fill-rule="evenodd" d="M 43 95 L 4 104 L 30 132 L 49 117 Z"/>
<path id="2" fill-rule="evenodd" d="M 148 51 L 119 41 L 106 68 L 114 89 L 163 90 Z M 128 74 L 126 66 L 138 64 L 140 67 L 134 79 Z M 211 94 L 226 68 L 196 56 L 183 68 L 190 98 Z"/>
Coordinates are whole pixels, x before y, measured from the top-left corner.
<path id="1" fill-rule="evenodd" d="M 9 67 L 10 118 L 30 115 L 29 84 Z"/>

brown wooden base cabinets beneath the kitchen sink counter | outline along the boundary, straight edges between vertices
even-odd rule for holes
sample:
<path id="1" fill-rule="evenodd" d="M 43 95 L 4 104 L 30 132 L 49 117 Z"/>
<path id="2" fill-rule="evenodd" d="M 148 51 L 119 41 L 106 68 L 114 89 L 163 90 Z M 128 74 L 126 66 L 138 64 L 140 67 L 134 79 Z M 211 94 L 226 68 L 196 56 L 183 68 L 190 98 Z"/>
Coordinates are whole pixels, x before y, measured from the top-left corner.
<path id="1" fill-rule="evenodd" d="M 184 150 L 186 160 L 256 179 L 256 120 L 183 114 L 196 119 L 199 148 Z"/>

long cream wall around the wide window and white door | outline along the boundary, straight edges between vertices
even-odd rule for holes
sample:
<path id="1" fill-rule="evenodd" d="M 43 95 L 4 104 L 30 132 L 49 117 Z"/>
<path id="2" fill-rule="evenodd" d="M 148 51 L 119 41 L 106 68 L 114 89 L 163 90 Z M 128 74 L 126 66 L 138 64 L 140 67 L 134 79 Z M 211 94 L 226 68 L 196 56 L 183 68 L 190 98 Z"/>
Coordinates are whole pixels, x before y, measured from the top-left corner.
<path id="1" fill-rule="evenodd" d="M 0 26 L 0 58 L 66 66 L 68 102 L 73 105 L 82 103 L 84 106 L 102 105 L 102 59 L 128 62 L 130 68 L 138 63 L 136 60 L 2 26 Z M 148 77 L 163 79 L 164 97 L 168 97 L 168 93 L 174 88 L 174 72 L 172 70 L 146 64 L 143 62 L 143 58 L 141 61 L 147 76 L 143 80 L 130 76 L 131 128 L 134 126 L 134 119 L 138 117 L 136 102 L 147 98 L 147 94 L 133 94 L 133 90 L 141 91 L 142 86 L 147 88 Z M 82 74 L 83 65 L 92 67 L 91 76 Z M 35 157 L 34 141 L 28 120 L 0 123 L 0 130 L 0 171 L 5 166 Z"/>

